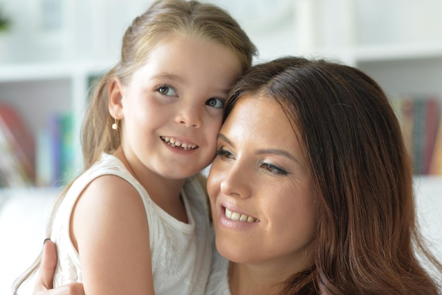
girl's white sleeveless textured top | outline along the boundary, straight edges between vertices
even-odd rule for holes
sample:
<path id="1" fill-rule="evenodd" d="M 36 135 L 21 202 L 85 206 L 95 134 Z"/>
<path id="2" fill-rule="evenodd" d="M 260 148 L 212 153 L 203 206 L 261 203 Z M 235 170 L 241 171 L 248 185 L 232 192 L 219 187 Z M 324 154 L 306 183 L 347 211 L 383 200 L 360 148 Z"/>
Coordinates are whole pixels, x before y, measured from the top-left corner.
<path id="1" fill-rule="evenodd" d="M 189 220 L 185 224 L 158 207 L 124 164 L 109 154 L 103 154 L 100 161 L 75 180 L 57 211 L 51 237 L 58 252 L 54 287 L 83 281 L 78 252 L 69 236 L 69 222 L 78 196 L 100 175 L 123 178 L 135 187 L 143 200 L 149 226 L 155 294 L 204 294 L 212 243 L 205 192 L 198 180 L 189 178 L 181 191 Z"/>

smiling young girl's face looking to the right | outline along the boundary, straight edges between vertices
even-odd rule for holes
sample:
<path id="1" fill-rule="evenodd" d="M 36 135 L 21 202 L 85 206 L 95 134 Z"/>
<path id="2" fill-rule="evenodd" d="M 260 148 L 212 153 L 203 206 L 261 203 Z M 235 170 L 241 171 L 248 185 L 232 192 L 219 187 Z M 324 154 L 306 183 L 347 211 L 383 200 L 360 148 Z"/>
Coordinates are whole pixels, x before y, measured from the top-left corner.
<path id="1" fill-rule="evenodd" d="M 135 173 L 146 175 L 147 167 L 182 179 L 208 166 L 225 98 L 241 72 L 235 52 L 215 42 L 176 36 L 157 45 L 121 86 L 121 146 Z"/>

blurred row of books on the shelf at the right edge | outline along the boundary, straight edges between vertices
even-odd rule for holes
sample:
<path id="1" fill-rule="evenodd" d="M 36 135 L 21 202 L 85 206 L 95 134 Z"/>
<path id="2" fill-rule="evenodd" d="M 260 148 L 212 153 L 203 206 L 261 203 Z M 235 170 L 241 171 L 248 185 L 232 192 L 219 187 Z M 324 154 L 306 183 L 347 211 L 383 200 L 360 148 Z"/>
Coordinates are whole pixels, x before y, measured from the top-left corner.
<path id="1" fill-rule="evenodd" d="M 407 151 L 417 175 L 442 175 L 441 100 L 433 96 L 398 96 L 391 103 L 398 115 Z M 438 131 L 439 130 L 439 131 Z"/>

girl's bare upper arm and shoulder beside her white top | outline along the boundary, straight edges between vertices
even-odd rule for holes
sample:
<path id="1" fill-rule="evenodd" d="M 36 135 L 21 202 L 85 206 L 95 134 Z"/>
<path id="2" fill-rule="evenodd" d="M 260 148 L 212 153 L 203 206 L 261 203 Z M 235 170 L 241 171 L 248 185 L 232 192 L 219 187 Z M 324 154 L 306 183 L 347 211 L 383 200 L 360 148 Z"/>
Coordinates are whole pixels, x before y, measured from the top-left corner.
<path id="1" fill-rule="evenodd" d="M 85 294 L 153 295 L 148 221 L 138 192 L 122 178 L 92 181 L 71 217 Z"/>

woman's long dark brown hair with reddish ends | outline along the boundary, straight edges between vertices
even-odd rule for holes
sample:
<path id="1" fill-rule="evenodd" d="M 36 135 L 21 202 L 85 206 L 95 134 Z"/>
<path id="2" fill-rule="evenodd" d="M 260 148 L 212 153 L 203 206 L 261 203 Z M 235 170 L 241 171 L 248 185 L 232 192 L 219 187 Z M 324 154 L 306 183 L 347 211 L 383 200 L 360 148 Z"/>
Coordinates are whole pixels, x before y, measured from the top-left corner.
<path id="1" fill-rule="evenodd" d="M 442 265 L 418 230 L 412 161 L 378 84 L 350 66 L 286 57 L 246 72 L 225 118 L 244 94 L 280 103 L 316 187 L 316 252 L 283 294 L 439 294 Z"/>

